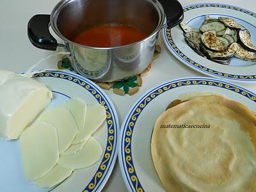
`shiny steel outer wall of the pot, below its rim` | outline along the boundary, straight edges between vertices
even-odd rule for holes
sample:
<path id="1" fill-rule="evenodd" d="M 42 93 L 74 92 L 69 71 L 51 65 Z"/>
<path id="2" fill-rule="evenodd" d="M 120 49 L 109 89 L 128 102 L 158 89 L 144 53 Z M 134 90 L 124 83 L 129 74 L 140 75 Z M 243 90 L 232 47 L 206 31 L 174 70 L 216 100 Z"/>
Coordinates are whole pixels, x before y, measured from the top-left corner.
<path id="1" fill-rule="evenodd" d="M 152 62 L 156 36 L 118 49 L 91 49 L 66 42 L 79 74 L 97 81 L 116 81 L 140 74 Z"/>

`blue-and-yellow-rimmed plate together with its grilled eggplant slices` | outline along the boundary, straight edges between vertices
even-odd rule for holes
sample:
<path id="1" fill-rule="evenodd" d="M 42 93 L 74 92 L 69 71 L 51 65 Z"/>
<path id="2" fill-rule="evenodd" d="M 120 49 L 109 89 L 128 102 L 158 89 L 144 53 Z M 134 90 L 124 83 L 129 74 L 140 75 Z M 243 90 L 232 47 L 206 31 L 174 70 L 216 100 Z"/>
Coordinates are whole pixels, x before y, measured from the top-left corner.
<path id="1" fill-rule="evenodd" d="M 215 3 L 183 10 L 180 25 L 163 31 L 170 52 L 208 76 L 256 83 L 256 13 Z"/>

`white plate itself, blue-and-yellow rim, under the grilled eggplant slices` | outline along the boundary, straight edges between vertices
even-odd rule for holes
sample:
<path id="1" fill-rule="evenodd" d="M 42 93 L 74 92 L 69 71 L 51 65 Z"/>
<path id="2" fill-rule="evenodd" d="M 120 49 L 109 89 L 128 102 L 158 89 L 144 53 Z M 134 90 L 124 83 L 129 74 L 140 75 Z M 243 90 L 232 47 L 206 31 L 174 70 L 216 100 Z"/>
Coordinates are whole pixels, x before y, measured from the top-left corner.
<path id="1" fill-rule="evenodd" d="M 251 33 L 251 40 L 256 45 L 256 13 L 227 4 L 193 4 L 183 8 L 184 22 L 189 26 L 200 28 L 204 16 L 230 17 L 243 25 Z M 172 54 L 188 67 L 205 75 L 229 79 L 241 83 L 256 83 L 256 62 L 232 58 L 230 65 L 221 65 L 196 54 L 186 44 L 179 26 L 163 30 L 164 42 Z"/>

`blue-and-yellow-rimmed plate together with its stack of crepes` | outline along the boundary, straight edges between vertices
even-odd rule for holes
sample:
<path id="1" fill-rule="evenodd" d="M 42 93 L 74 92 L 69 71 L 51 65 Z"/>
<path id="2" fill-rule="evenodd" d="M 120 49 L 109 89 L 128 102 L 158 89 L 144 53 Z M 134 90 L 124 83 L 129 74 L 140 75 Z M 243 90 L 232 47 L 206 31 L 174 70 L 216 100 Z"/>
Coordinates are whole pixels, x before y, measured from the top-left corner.
<path id="1" fill-rule="evenodd" d="M 159 84 L 132 106 L 119 136 L 129 191 L 256 189 L 256 94 L 227 81 Z"/>

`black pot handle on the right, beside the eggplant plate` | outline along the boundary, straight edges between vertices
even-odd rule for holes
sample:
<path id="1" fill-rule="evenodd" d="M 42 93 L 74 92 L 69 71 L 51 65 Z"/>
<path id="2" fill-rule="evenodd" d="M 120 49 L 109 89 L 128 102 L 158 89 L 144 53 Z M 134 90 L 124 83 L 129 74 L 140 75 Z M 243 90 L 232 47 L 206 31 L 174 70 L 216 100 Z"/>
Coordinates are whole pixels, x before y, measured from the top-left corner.
<path id="1" fill-rule="evenodd" d="M 184 18 L 183 8 L 177 0 L 158 0 L 164 8 L 167 28 L 173 28 Z"/>

